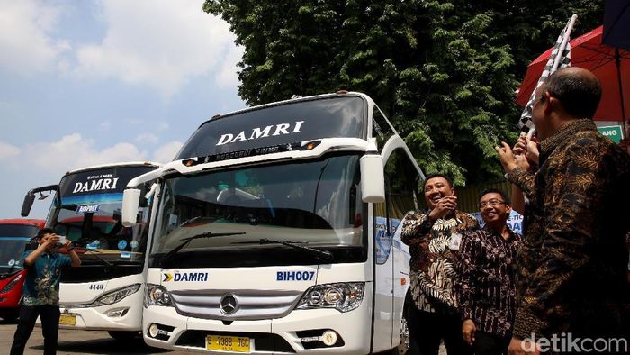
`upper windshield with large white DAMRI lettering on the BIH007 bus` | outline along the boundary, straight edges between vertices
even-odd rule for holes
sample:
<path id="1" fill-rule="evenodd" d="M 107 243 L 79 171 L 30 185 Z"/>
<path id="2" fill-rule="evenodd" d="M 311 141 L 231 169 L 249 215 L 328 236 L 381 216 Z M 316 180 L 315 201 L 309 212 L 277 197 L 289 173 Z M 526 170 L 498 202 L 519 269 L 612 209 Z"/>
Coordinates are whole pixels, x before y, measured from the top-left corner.
<path id="1" fill-rule="evenodd" d="M 366 111 L 362 97 L 337 96 L 221 116 L 203 123 L 175 159 L 322 138 L 365 138 Z"/>

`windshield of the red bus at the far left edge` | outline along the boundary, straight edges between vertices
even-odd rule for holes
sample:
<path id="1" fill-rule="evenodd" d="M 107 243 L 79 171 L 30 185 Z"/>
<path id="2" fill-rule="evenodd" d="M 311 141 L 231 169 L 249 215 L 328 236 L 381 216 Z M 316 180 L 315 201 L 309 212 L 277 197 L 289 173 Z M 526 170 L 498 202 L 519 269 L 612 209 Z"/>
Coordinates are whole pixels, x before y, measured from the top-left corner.
<path id="1" fill-rule="evenodd" d="M 39 228 L 28 224 L 0 224 L 0 274 L 23 269 L 20 261 L 28 241 Z"/>

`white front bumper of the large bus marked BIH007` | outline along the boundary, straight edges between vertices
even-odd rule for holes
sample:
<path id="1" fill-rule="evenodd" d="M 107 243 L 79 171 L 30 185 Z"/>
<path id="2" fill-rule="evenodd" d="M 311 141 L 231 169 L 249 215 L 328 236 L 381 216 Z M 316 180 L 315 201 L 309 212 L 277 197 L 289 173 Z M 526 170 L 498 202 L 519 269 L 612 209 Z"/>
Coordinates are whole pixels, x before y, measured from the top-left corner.
<path id="1" fill-rule="evenodd" d="M 175 307 L 153 305 L 144 310 L 142 335 L 149 346 L 210 354 L 366 354 L 370 352 L 372 323 L 366 301 L 347 313 L 304 309 L 278 319 L 233 322 L 186 317 L 177 314 Z M 149 332 L 151 326 L 153 336 Z M 320 340 L 325 332 L 329 336 L 334 332 L 337 341 L 326 345 Z M 209 336 L 248 339 L 248 351 L 210 349 L 206 345 Z"/>

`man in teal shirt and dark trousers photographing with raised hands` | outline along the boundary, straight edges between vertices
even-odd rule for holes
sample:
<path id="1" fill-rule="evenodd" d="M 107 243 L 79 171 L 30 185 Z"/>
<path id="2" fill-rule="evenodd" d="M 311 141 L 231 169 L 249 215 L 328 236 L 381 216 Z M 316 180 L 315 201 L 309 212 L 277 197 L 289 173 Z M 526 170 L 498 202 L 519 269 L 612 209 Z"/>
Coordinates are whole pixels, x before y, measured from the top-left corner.
<path id="1" fill-rule="evenodd" d="M 14 334 L 11 355 L 22 355 L 29 340 L 37 317 L 41 318 L 41 332 L 44 336 L 44 355 L 57 352 L 59 331 L 59 279 L 61 268 L 78 267 L 81 259 L 76 255 L 71 241 L 63 245 L 54 230 L 44 228 L 37 234 L 36 250 L 23 253 L 23 265 L 27 269 L 23 286 L 23 301 L 20 306 L 20 321 Z M 57 250 L 65 248 L 67 255 Z"/>

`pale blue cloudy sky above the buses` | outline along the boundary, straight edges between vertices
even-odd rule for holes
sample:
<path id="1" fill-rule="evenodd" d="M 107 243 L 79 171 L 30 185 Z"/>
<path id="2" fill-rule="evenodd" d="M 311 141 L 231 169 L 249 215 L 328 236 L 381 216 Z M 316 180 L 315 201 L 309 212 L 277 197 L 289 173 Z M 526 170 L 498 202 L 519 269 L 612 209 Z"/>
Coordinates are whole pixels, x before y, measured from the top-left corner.
<path id="1" fill-rule="evenodd" d="M 68 170 L 170 161 L 201 123 L 245 107 L 243 49 L 202 4 L 0 0 L 0 218 Z"/>

